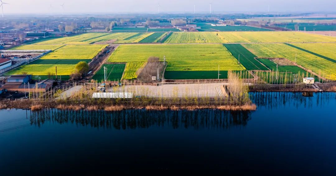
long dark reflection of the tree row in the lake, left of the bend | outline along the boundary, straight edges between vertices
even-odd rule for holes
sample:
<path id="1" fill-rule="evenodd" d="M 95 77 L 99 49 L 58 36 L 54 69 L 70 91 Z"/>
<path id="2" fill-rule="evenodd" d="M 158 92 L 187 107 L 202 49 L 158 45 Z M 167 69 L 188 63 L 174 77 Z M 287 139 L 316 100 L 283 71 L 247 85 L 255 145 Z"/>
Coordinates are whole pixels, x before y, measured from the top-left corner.
<path id="1" fill-rule="evenodd" d="M 118 112 L 106 111 L 69 111 L 45 109 L 32 112 L 31 125 L 40 127 L 44 123 L 72 123 L 94 128 L 136 129 L 151 126 L 193 129 L 227 129 L 233 126 L 245 126 L 250 120 L 248 111 L 146 111 L 124 110 Z"/>

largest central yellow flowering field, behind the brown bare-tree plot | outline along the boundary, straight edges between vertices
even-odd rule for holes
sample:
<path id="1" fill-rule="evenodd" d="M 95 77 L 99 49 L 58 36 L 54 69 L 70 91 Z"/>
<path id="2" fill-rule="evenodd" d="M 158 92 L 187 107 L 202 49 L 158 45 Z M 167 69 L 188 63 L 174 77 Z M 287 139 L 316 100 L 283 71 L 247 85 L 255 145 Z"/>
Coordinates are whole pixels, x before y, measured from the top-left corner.
<path id="1" fill-rule="evenodd" d="M 221 44 L 121 45 L 108 62 L 146 62 L 157 56 L 168 62 L 167 71 L 244 70 L 235 57 Z M 127 67 L 127 66 L 126 66 Z"/>

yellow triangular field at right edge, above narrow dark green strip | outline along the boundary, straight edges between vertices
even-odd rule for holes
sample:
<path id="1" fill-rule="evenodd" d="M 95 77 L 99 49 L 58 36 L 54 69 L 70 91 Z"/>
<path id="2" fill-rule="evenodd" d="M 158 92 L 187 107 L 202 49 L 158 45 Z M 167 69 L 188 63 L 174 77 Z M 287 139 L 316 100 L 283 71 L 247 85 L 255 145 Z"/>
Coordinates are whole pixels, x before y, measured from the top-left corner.
<path id="1" fill-rule="evenodd" d="M 321 55 L 320 57 L 328 57 L 336 62 L 336 43 L 295 43 L 290 45 Z"/>

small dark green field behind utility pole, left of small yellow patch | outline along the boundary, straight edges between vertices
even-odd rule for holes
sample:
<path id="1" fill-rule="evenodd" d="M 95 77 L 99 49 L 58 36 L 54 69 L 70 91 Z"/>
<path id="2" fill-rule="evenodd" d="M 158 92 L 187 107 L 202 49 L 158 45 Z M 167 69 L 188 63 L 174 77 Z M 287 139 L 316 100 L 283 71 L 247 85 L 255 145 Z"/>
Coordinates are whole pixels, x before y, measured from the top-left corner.
<path id="1" fill-rule="evenodd" d="M 120 81 L 123 76 L 126 64 L 103 64 L 101 68 L 93 75 L 92 79 L 97 81 L 104 80 L 104 68 L 107 68 L 107 80 Z"/>

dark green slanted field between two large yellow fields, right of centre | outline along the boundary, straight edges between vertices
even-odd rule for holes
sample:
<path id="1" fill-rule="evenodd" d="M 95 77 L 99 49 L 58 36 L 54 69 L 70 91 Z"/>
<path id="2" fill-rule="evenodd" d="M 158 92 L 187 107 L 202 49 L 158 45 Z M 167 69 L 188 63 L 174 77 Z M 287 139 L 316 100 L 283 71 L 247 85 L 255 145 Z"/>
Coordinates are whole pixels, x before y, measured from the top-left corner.
<path id="1" fill-rule="evenodd" d="M 256 59 L 257 56 L 244 48 L 241 44 L 223 44 L 224 47 L 239 61 L 247 70 L 268 70 Z"/>

